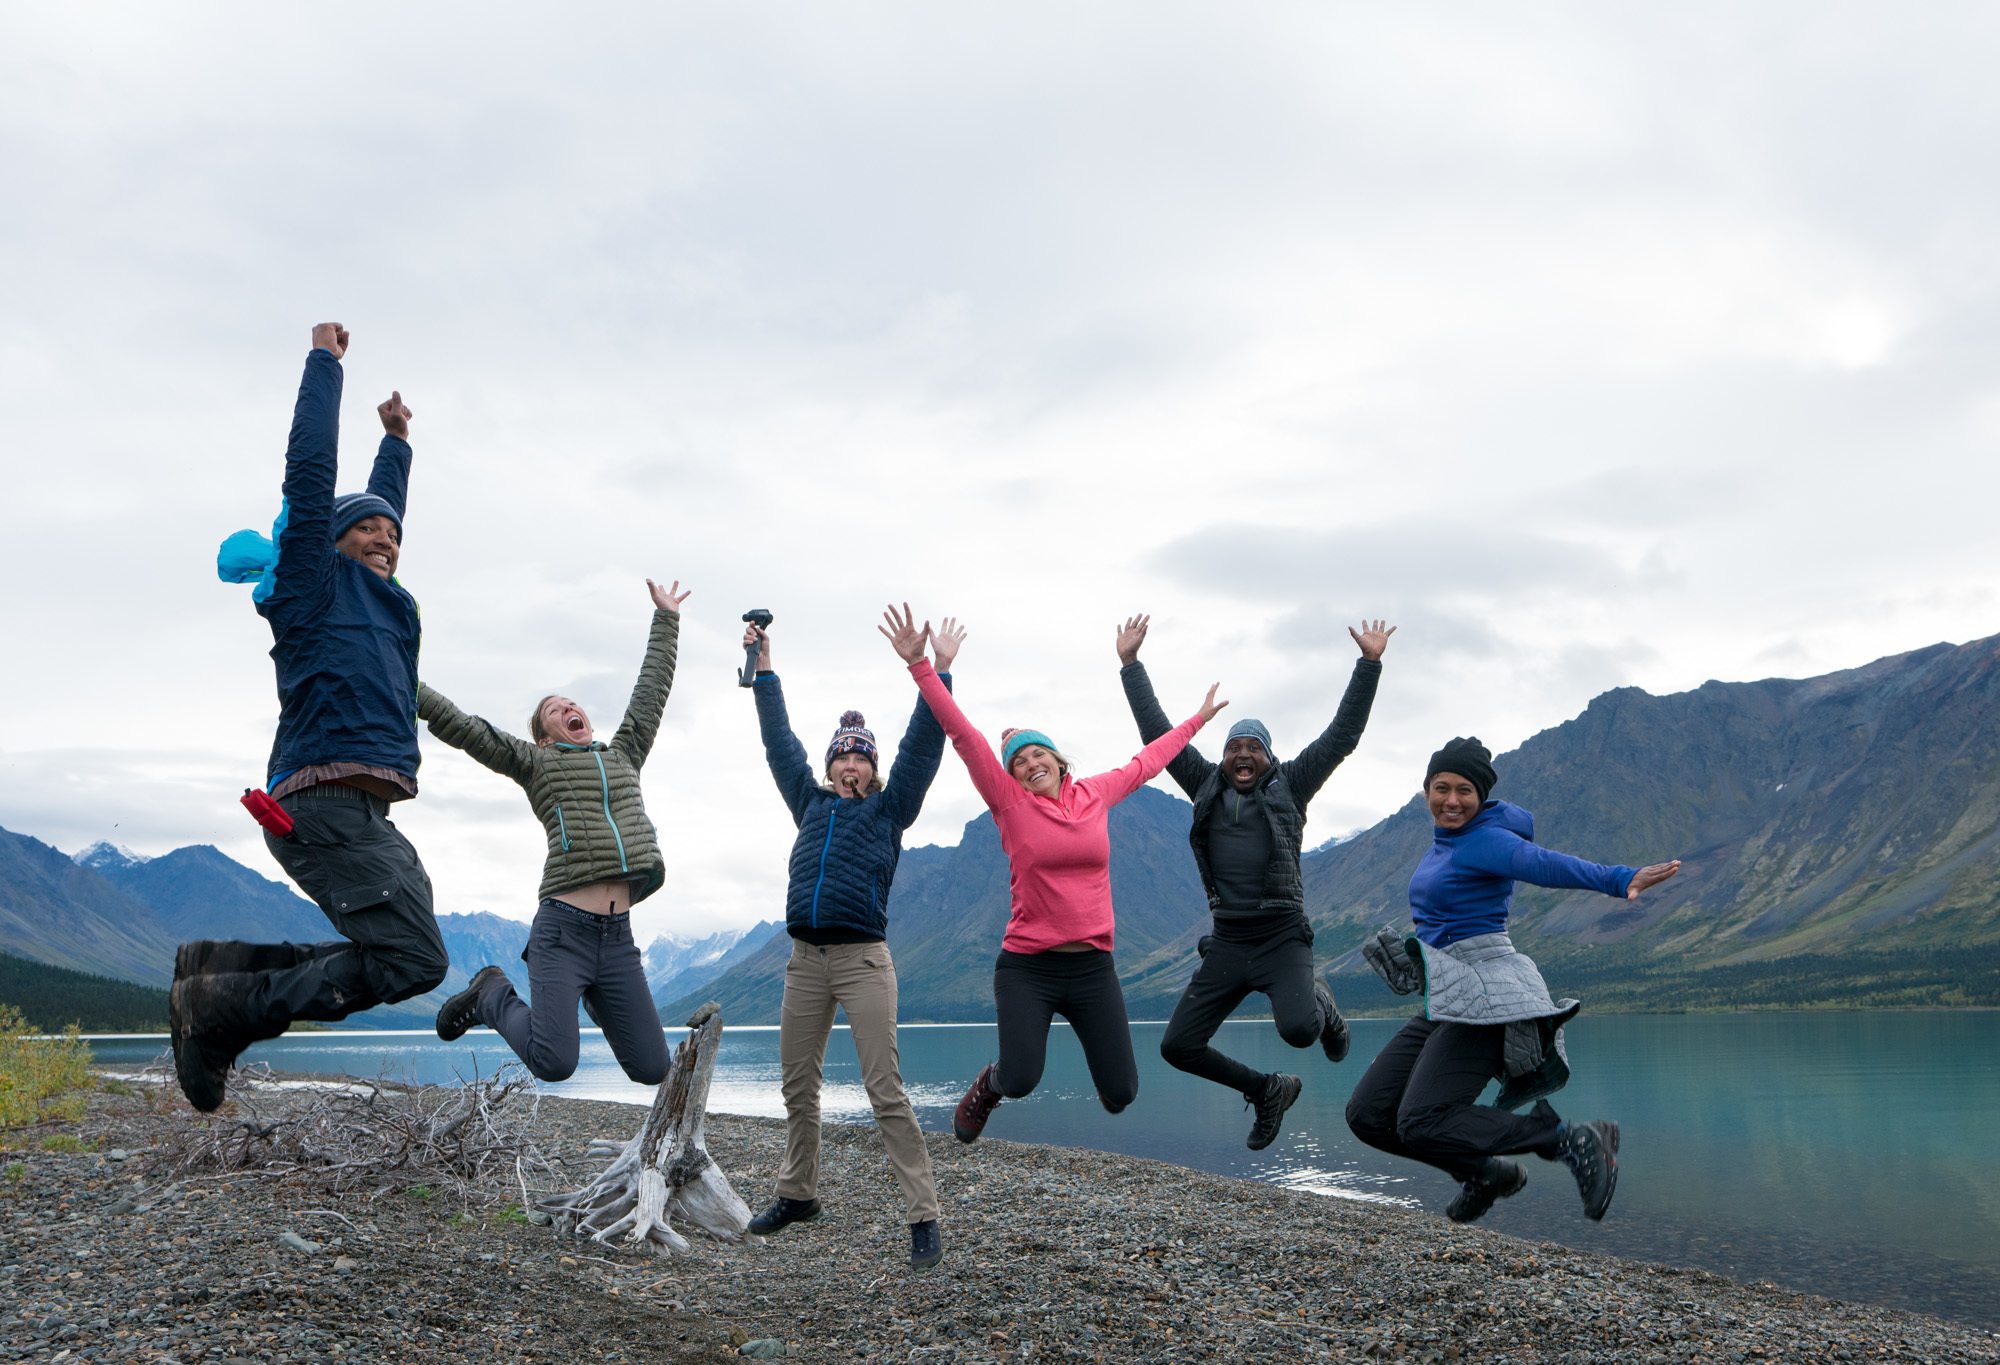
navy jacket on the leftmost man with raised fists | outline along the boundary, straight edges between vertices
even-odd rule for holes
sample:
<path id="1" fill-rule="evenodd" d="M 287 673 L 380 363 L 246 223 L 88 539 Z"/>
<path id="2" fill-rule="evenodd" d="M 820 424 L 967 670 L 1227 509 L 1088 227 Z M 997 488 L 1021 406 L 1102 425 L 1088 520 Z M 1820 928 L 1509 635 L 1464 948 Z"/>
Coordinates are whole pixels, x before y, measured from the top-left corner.
<path id="1" fill-rule="evenodd" d="M 366 763 L 416 777 L 416 598 L 334 548 L 340 362 L 306 356 L 284 448 L 286 524 L 274 588 L 256 604 L 278 664 L 270 783 L 320 763 Z M 368 492 L 402 508 L 410 442 L 382 436 Z"/>

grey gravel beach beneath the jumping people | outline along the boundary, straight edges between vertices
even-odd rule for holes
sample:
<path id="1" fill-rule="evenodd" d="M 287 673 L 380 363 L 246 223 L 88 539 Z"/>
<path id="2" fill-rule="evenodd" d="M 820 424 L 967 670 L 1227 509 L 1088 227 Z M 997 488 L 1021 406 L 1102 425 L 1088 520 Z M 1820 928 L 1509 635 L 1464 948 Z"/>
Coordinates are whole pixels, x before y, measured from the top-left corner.
<path id="1" fill-rule="evenodd" d="M 818 1221 L 620 1255 L 520 1221 L 512 1179 L 472 1201 L 176 1179 L 160 1153 L 232 1107 L 118 1089 L 6 1135 L 0 1361 L 2000 1361 L 2000 1335 L 1934 1317 L 950 1135 L 930 1135 L 946 1261 L 916 1275 L 872 1127 L 826 1129 Z M 582 1185 L 588 1141 L 640 1119 L 544 1097 L 532 1135 Z M 710 1119 L 752 1209 L 782 1143 L 782 1123 Z"/>

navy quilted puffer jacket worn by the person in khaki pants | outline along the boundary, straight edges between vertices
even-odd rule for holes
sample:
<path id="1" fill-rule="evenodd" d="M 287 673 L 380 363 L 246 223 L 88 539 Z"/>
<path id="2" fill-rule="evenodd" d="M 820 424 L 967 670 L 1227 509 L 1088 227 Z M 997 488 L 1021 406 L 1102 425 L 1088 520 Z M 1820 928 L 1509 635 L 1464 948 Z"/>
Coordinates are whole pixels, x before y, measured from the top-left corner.
<path id="1" fill-rule="evenodd" d="M 950 674 L 944 685 L 952 685 Z M 930 781 L 938 777 L 944 731 L 930 707 L 918 701 L 882 791 L 862 799 L 836 797 L 792 735 L 778 674 L 758 674 L 752 693 L 764 759 L 798 825 L 792 883 L 784 893 L 786 931 L 886 937 L 888 885 L 902 859 L 902 831 L 916 823 Z"/>

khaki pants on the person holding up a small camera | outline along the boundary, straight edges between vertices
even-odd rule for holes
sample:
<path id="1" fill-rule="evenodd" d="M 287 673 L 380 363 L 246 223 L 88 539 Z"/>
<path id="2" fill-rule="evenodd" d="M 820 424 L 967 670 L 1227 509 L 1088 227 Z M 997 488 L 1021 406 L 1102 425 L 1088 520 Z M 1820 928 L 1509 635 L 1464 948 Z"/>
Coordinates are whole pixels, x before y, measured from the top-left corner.
<path id="1" fill-rule="evenodd" d="M 916 1111 L 902 1093 L 896 1055 L 896 963 L 884 943 L 832 943 L 814 947 L 792 941 L 784 967 L 784 1007 L 778 1013 L 778 1059 L 784 1069 L 784 1165 L 778 1193 L 812 1199 L 820 1187 L 820 1073 L 834 1007 L 848 1013 L 862 1085 L 882 1131 L 882 1147 L 896 1167 L 908 1221 L 938 1217 L 938 1187 L 930 1177 L 930 1151 Z"/>

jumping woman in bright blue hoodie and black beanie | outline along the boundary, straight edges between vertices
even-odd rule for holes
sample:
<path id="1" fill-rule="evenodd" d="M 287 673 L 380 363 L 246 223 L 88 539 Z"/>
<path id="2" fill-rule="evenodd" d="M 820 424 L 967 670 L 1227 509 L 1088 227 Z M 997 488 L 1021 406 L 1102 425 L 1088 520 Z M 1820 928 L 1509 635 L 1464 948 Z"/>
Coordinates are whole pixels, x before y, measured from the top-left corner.
<path id="1" fill-rule="evenodd" d="M 1348 1127 L 1370 1147 L 1434 1165 L 1460 1181 L 1446 1209 L 1472 1223 L 1520 1193 L 1528 1173 L 1508 1155 L 1562 1161 L 1584 1215 L 1602 1219 L 1618 1189 L 1618 1125 L 1564 1123 L 1544 1095 L 1568 1081 L 1562 1025 L 1576 1001 L 1552 1001 L 1542 973 L 1506 935 L 1514 883 L 1602 891 L 1634 901 L 1680 863 L 1604 867 L 1534 843 L 1534 817 L 1490 801 L 1492 755 L 1454 739 L 1430 757 L 1424 803 L 1436 827 L 1410 877 L 1416 935 L 1384 929 L 1362 953 L 1390 989 L 1424 991 L 1424 1013 L 1382 1049 L 1348 1101 Z M 1480 1091 L 1500 1079 L 1498 1105 Z M 1510 1113 L 1534 1101 L 1526 1115 Z"/>

